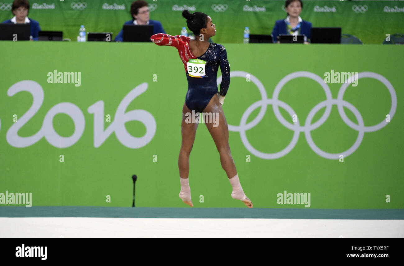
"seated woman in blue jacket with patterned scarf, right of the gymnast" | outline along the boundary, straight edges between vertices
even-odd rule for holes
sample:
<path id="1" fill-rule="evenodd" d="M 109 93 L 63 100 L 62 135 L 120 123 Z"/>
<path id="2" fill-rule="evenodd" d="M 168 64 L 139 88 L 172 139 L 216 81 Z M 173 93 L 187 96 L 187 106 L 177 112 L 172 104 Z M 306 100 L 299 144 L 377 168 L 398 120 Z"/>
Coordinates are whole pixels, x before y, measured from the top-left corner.
<path id="1" fill-rule="evenodd" d="M 310 39 L 311 23 L 304 21 L 299 16 L 302 12 L 302 0 L 286 0 L 285 11 L 288 13 L 286 19 L 280 19 L 275 22 L 272 36 L 274 36 L 274 43 L 278 41 L 279 34 L 304 34 L 305 43 Z"/>

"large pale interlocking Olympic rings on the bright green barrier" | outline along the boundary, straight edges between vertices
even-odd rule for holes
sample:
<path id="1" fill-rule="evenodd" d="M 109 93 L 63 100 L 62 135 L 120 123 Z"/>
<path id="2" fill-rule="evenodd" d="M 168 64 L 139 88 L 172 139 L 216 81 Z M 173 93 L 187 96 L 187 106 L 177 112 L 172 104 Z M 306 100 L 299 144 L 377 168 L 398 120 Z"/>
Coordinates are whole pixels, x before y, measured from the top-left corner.
<path id="1" fill-rule="evenodd" d="M 339 89 L 337 99 L 333 99 L 332 95 L 331 95 L 331 90 L 328 87 L 328 85 L 326 83 L 324 83 L 324 79 L 322 79 L 318 75 L 311 73 L 311 72 L 298 71 L 298 72 L 290 73 L 289 75 L 286 75 L 286 77 L 281 79 L 275 87 L 274 93 L 272 94 L 272 99 L 268 99 L 265 87 L 261 83 L 261 81 L 259 81 L 259 79 L 257 79 L 257 77 L 253 76 L 250 73 L 244 72 L 244 71 L 230 71 L 230 77 L 244 77 L 245 78 L 247 74 L 251 76 L 251 81 L 258 87 L 262 99 L 251 104 L 244 111 L 244 114 L 242 115 L 241 120 L 240 120 L 240 125 L 238 125 L 238 126 L 228 125 L 228 126 L 229 126 L 229 131 L 240 132 L 240 138 L 244 144 L 244 147 L 249 152 L 251 152 L 252 154 L 254 154 L 255 156 L 257 156 L 259 158 L 268 160 L 268 159 L 277 159 L 277 158 L 281 158 L 281 157 L 285 156 L 295 147 L 295 145 L 299 139 L 300 132 L 304 132 L 307 143 L 309 144 L 311 150 L 313 150 L 316 154 L 318 154 L 326 159 L 336 160 L 336 159 L 339 159 L 340 154 L 343 154 L 343 156 L 346 157 L 346 156 L 351 155 L 353 152 L 355 152 L 356 149 L 358 149 L 360 143 L 362 143 L 362 139 L 364 137 L 365 132 L 377 131 L 377 130 L 385 127 L 388 123 L 387 121 L 383 120 L 381 123 L 379 123 L 377 125 L 368 126 L 368 127 L 366 127 L 364 125 L 362 115 L 360 114 L 358 109 L 356 109 L 356 107 L 353 106 L 352 104 L 350 104 L 349 102 L 343 100 L 345 90 L 350 85 L 350 83 L 343 83 L 341 85 L 341 88 Z M 324 92 L 326 94 L 326 100 L 318 103 L 316 106 L 314 106 L 310 110 L 309 114 L 307 115 L 304 126 L 300 125 L 299 119 L 297 119 L 297 121 L 294 122 L 294 124 L 289 123 L 288 121 L 286 121 L 283 118 L 283 116 L 281 115 L 281 113 L 279 111 L 279 106 L 280 106 L 283 109 L 285 109 L 290 114 L 290 116 L 293 117 L 296 114 L 296 112 L 292 109 L 292 107 L 290 107 L 285 102 L 282 102 L 281 100 L 279 100 L 278 96 L 279 96 L 280 90 L 288 81 L 298 78 L 298 77 L 307 77 L 309 79 L 313 79 L 314 81 L 317 81 L 320 84 L 320 86 L 324 89 Z M 396 113 L 396 108 L 397 108 L 397 96 L 396 96 L 396 91 L 394 90 L 393 85 L 391 85 L 391 83 L 385 77 L 383 77 L 382 75 L 379 75 L 377 73 L 374 73 L 374 72 L 358 73 L 358 79 L 366 78 L 366 77 L 377 79 L 378 81 L 381 81 L 389 90 L 389 93 L 391 96 L 391 108 L 389 111 L 389 115 L 390 115 L 390 118 L 392 119 L 394 114 Z M 218 85 L 220 84 L 221 80 L 222 80 L 221 76 L 217 78 Z M 252 129 L 262 120 L 265 112 L 267 111 L 268 104 L 272 105 L 272 109 L 274 110 L 274 114 L 275 114 L 276 118 L 278 119 L 278 121 L 284 127 L 287 127 L 288 129 L 295 131 L 295 133 L 292 137 L 292 141 L 286 146 L 286 148 L 284 148 L 284 150 L 281 150 L 280 152 L 276 152 L 276 153 L 272 153 L 272 154 L 260 152 L 259 150 L 252 147 L 252 145 L 248 142 L 248 139 L 246 136 L 246 130 Z M 318 148 L 318 146 L 314 143 L 313 139 L 311 138 L 311 133 L 310 133 L 310 131 L 317 129 L 328 119 L 328 116 L 331 113 L 332 105 L 337 105 L 338 112 L 339 112 L 342 120 L 345 122 L 345 124 L 347 124 L 351 129 L 355 129 L 356 131 L 358 131 L 358 138 L 356 139 L 355 143 L 351 146 L 351 148 L 349 148 L 348 150 L 346 150 L 344 152 L 338 153 L 338 154 L 332 154 L 332 153 L 328 153 L 328 152 L 324 152 L 323 150 L 320 150 L 320 148 Z M 259 111 L 259 114 L 257 115 L 257 117 L 254 118 L 254 120 L 252 120 L 250 123 L 246 123 L 250 114 L 259 107 L 261 107 L 261 110 Z M 312 121 L 313 117 L 315 116 L 315 114 L 319 110 L 321 110 L 323 107 L 326 107 L 326 110 L 325 110 L 324 114 L 322 115 L 322 117 L 316 123 L 311 124 L 311 121 Z M 345 114 L 343 107 L 348 108 L 355 115 L 355 117 L 358 121 L 358 125 L 356 125 L 351 120 L 349 120 L 349 118 Z"/>

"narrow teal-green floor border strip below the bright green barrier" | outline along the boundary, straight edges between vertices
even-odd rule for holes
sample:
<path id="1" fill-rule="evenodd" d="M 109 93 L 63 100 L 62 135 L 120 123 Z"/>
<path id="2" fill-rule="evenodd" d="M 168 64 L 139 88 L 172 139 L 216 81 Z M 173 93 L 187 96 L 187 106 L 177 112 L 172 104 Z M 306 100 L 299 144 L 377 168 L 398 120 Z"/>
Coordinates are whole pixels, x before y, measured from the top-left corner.
<path id="1" fill-rule="evenodd" d="M 404 209 L 271 209 L 271 208 L 145 208 L 2 206 L 0 217 L 110 217 L 110 218 L 263 218 L 404 220 Z"/>

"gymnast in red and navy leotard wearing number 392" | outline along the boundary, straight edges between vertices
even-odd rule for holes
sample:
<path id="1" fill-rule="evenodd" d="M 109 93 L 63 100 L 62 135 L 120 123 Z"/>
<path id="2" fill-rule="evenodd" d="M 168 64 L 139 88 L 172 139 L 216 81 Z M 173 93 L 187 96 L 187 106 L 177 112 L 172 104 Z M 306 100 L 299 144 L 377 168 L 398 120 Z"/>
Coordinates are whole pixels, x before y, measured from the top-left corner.
<path id="1" fill-rule="evenodd" d="M 240 185 L 236 166 L 234 165 L 233 157 L 231 157 L 229 130 L 222 109 L 230 84 L 230 67 L 226 49 L 221 44 L 208 42 L 208 39 L 216 34 L 216 26 L 208 15 L 201 12 L 191 14 L 186 9 L 182 12 L 182 15 L 187 19 L 188 28 L 195 34 L 195 40 L 183 35 L 171 36 L 163 33 L 155 34 L 150 38 L 157 45 L 174 46 L 178 49 L 188 80 L 188 91 L 182 109 L 182 141 L 178 158 L 181 181 L 179 197 L 185 204 L 191 207 L 194 206 L 191 200 L 188 174 L 189 154 L 194 144 L 198 123 L 191 123 L 190 121 L 196 121 L 195 113 L 199 112 L 210 114 L 211 117 L 217 115 L 218 123 L 206 123 L 206 127 L 215 141 L 222 168 L 225 170 L 233 187 L 231 197 L 241 200 L 246 206 L 252 208 L 252 202 L 244 194 Z M 218 66 L 222 73 L 220 92 L 217 91 L 216 82 Z M 193 116 L 192 119 L 187 119 L 189 115 Z"/>

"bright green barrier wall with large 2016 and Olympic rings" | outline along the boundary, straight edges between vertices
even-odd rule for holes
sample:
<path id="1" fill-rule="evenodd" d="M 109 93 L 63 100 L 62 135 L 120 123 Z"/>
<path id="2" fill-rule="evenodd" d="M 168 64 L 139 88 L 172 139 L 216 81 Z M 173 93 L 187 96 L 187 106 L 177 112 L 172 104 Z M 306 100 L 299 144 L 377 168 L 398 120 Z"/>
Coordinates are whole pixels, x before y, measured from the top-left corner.
<path id="1" fill-rule="evenodd" d="M 225 47 L 229 145 L 254 208 L 404 208 L 400 46 Z M 136 206 L 188 207 L 178 196 L 177 164 L 187 80 L 175 48 L 0 42 L 0 49 L 8 51 L 0 207 L 6 193 L 32 193 L 32 206 L 131 206 L 132 175 Z M 231 198 L 202 123 L 189 184 L 195 207 L 244 206 Z"/>

